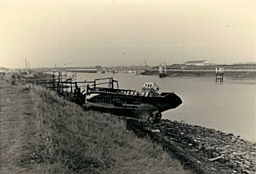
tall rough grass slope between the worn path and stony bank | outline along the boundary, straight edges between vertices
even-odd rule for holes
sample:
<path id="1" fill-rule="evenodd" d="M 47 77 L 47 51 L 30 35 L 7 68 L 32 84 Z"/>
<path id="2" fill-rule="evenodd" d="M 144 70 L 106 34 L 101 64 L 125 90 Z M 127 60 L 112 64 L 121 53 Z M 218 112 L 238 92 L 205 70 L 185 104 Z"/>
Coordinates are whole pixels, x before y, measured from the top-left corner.
<path id="1" fill-rule="evenodd" d="M 31 97 L 36 131 L 29 156 L 38 173 L 189 173 L 109 114 L 84 111 L 39 86 L 31 87 Z"/>

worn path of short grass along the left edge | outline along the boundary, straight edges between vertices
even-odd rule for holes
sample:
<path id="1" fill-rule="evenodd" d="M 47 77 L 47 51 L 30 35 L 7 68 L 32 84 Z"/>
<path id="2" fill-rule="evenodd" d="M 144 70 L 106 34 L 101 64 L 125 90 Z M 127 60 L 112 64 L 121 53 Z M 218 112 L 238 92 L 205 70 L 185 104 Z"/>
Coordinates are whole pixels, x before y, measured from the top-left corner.
<path id="1" fill-rule="evenodd" d="M 35 173 L 23 156 L 29 152 L 29 90 L 0 81 L 0 173 Z M 30 134 L 30 135 L 29 135 Z"/>

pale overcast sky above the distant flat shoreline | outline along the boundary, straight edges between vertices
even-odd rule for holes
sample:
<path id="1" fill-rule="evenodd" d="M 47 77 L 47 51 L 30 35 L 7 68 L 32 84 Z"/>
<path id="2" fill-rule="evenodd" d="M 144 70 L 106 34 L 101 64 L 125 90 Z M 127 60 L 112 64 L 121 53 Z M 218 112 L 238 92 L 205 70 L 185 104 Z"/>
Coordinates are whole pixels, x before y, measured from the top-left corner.
<path id="1" fill-rule="evenodd" d="M 255 0 L 0 0 L 0 67 L 255 62 L 255 17 Z"/>

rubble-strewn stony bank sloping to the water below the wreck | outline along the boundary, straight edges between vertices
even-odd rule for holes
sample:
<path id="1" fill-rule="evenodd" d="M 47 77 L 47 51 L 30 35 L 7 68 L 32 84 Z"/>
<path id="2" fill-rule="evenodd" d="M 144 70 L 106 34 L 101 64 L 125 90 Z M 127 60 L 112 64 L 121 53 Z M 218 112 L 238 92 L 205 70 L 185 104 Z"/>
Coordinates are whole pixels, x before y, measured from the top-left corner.
<path id="1" fill-rule="evenodd" d="M 161 120 L 159 124 L 118 117 L 127 129 L 139 137 L 162 145 L 194 173 L 255 173 L 255 142 L 232 134 L 177 121 Z"/>

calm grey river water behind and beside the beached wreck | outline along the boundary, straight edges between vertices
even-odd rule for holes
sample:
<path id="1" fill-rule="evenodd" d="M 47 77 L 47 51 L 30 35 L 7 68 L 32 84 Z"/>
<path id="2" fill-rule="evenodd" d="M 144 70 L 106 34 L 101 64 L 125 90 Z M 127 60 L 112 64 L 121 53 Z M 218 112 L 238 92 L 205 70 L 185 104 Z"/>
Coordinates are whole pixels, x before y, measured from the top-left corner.
<path id="1" fill-rule="evenodd" d="M 71 72 L 67 73 L 72 75 Z M 113 77 L 119 88 L 141 91 L 144 82 L 155 82 L 160 92 L 174 92 L 182 99 L 176 109 L 162 113 L 163 119 L 214 128 L 255 141 L 255 81 L 226 80 L 213 77 L 166 77 L 134 73 L 77 73 L 77 81 Z M 86 84 L 86 83 L 85 83 Z"/>

